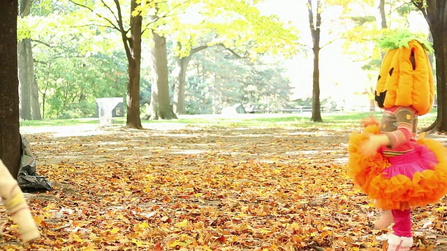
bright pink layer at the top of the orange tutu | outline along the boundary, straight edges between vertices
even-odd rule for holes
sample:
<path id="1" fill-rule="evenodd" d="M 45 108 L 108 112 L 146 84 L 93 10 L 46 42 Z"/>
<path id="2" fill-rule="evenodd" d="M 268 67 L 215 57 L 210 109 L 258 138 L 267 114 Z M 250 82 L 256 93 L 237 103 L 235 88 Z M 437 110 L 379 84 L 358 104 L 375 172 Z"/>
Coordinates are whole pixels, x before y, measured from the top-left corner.
<path id="1" fill-rule="evenodd" d="M 388 161 L 391 166 L 383 170 L 388 178 L 402 174 L 412 179 L 416 172 L 432 170 L 438 164 L 436 155 L 425 145 L 418 145 L 413 151 L 388 158 Z"/>

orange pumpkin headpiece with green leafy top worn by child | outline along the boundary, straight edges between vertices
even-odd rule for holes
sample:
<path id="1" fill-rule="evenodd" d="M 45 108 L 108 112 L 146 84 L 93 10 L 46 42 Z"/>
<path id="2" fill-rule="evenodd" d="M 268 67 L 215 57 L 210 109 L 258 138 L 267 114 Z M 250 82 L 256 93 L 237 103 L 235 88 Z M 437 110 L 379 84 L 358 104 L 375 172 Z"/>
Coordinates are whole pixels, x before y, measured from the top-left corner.
<path id="1" fill-rule="evenodd" d="M 379 107 L 413 106 L 419 115 L 432 109 L 434 82 L 427 52 L 428 41 L 399 31 L 396 36 L 378 40 L 379 47 L 388 48 L 383 57 L 375 100 Z"/>

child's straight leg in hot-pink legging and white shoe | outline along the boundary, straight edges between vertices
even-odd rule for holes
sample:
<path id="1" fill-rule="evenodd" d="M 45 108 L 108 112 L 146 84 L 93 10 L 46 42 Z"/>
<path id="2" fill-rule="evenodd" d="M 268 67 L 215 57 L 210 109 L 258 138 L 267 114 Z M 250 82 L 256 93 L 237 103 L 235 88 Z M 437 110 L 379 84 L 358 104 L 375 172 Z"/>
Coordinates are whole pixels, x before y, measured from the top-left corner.
<path id="1" fill-rule="evenodd" d="M 392 210 L 394 234 L 388 237 L 388 251 L 406 251 L 413 245 L 411 235 L 411 210 Z"/>

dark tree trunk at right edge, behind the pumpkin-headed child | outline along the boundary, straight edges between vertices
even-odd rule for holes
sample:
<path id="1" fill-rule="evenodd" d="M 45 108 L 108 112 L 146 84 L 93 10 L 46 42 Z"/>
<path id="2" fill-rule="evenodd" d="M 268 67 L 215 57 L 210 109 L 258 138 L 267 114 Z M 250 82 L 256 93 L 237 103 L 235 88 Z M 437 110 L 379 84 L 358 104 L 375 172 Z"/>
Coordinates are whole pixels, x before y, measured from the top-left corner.
<path id="1" fill-rule="evenodd" d="M 447 132 L 447 2 L 445 0 L 413 0 L 422 11 L 433 37 L 437 73 L 437 119 L 425 130 Z"/>

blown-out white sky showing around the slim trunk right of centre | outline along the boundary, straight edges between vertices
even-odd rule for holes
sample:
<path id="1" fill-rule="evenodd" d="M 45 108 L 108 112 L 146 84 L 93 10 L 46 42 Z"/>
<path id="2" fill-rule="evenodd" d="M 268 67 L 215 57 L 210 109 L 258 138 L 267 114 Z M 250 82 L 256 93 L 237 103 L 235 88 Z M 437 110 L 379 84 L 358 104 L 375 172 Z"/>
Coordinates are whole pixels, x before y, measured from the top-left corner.
<path id="1" fill-rule="evenodd" d="M 305 0 L 265 0 L 259 4 L 261 12 L 265 15 L 275 14 L 284 22 L 293 22 L 302 31 L 302 43 L 312 44 L 309 21 Z M 322 26 L 328 27 L 330 22 L 336 19 L 337 10 L 322 13 Z M 411 15 L 409 22 L 411 30 L 426 30 L 425 20 L 420 15 Z M 329 24 L 328 24 L 329 23 Z M 325 34 L 321 33 L 324 40 Z M 324 42 L 323 42 L 324 43 Z M 368 73 L 361 69 L 362 62 L 353 62 L 343 53 L 342 42 L 331 43 L 320 51 L 320 89 L 321 100 L 332 97 L 337 103 L 346 105 L 369 105 L 369 100 L 359 100 L 355 93 L 362 92 L 365 86 L 371 83 Z M 298 55 L 292 60 L 286 61 L 288 77 L 295 87 L 295 93 L 291 98 L 307 98 L 312 96 L 313 54 Z M 372 79 L 376 79 L 373 77 Z"/>

